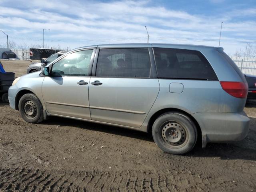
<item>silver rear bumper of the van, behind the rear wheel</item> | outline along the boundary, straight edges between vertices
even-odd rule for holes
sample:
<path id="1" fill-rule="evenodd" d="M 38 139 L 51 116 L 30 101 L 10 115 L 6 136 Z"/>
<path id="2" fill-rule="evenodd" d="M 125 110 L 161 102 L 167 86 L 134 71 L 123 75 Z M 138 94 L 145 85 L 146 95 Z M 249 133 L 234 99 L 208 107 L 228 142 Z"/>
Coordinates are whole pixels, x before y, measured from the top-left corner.
<path id="1" fill-rule="evenodd" d="M 203 112 L 192 116 L 197 120 L 205 141 L 234 142 L 243 140 L 248 134 L 250 119 L 245 112 Z"/>

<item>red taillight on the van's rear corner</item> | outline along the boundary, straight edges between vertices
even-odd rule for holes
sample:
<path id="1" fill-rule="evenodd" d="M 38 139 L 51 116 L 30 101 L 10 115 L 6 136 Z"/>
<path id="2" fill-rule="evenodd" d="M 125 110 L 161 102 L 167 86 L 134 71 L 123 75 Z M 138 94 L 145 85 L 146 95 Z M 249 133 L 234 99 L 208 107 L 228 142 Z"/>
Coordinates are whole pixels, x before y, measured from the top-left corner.
<path id="1" fill-rule="evenodd" d="M 220 81 L 222 89 L 236 98 L 246 98 L 248 84 L 246 82 Z"/>

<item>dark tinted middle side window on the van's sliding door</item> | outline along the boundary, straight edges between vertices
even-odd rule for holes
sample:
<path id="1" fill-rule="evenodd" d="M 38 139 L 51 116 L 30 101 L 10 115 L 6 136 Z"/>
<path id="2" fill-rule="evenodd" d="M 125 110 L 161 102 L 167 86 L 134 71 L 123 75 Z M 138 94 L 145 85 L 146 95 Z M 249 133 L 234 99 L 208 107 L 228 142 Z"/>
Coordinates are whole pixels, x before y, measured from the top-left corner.
<path id="1" fill-rule="evenodd" d="M 100 49 L 96 76 L 148 78 L 150 67 L 148 49 Z"/>

